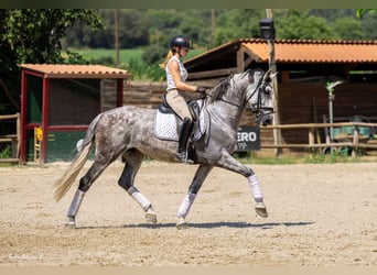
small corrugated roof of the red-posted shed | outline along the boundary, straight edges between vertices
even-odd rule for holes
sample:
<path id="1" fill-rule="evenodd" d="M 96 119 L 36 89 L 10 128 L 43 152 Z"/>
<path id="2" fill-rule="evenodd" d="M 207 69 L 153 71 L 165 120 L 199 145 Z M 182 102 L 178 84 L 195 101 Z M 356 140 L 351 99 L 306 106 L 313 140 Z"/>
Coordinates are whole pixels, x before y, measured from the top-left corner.
<path id="1" fill-rule="evenodd" d="M 42 74 L 44 78 L 129 78 L 125 69 L 103 65 L 21 64 L 21 68 Z"/>

